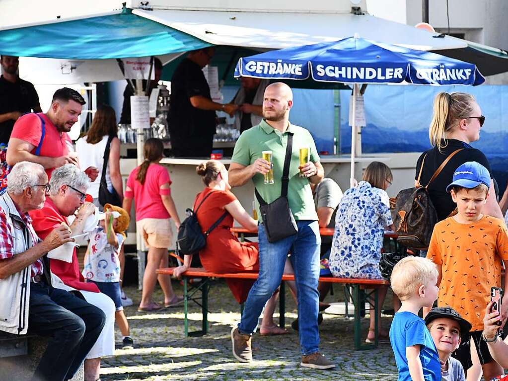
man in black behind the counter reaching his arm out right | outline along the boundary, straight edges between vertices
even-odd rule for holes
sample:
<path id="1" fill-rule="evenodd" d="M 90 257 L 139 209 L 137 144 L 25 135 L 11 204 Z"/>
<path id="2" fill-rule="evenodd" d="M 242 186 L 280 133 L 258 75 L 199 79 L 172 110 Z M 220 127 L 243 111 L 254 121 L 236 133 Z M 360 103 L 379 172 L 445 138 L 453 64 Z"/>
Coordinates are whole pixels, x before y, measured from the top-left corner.
<path id="1" fill-rule="evenodd" d="M 203 69 L 213 57 L 213 47 L 190 52 L 171 79 L 168 123 L 171 149 L 176 157 L 210 157 L 215 134 L 215 111 L 231 116 L 233 104 L 213 102 Z"/>

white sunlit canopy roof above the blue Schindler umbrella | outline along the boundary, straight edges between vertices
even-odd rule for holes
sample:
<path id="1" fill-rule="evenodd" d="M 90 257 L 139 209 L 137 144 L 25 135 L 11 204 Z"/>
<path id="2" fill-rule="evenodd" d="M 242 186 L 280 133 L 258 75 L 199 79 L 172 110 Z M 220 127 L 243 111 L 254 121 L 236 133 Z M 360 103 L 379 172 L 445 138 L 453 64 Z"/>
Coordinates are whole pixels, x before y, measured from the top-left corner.
<path id="1" fill-rule="evenodd" d="M 171 26 L 214 45 L 281 49 L 337 41 L 358 33 L 365 39 L 418 50 L 456 49 L 465 41 L 432 38 L 427 31 L 367 14 L 184 11 L 135 9 L 134 14 Z"/>

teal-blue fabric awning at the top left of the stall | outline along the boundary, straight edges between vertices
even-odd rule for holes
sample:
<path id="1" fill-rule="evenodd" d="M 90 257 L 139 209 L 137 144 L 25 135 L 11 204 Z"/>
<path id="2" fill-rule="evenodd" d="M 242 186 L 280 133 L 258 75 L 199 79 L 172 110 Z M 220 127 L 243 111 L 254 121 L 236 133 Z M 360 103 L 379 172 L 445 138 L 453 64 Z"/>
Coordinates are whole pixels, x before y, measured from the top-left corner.
<path id="1" fill-rule="evenodd" d="M 0 30 L 0 54 L 67 59 L 145 57 L 211 44 L 130 11 Z"/>

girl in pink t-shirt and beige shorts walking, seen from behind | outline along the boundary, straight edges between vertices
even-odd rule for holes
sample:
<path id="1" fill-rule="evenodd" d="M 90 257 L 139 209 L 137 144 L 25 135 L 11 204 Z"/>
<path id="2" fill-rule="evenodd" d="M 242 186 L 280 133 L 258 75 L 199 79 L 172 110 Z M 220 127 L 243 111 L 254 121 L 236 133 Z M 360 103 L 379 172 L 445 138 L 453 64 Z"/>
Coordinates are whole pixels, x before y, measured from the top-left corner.
<path id="1" fill-rule="evenodd" d="M 158 162 L 163 158 L 164 145 L 160 139 L 148 139 L 143 153 L 145 160 L 136 167 L 127 180 L 123 209 L 131 214 L 132 201 L 136 210 L 136 229 L 148 246 L 147 264 L 143 276 L 143 294 L 138 311 L 155 311 L 162 308 L 152 301 L 155 282 L 164 292 L 164 306 L 171 307 L 183 298 L 176 296 L 169 275 L 158 275 L 157 268 L 168 267 L 168 247 L 172 242 L 170 218 L 180 226 L 180 218 L 171 197 L 171 179 L 166 168 Z"/>

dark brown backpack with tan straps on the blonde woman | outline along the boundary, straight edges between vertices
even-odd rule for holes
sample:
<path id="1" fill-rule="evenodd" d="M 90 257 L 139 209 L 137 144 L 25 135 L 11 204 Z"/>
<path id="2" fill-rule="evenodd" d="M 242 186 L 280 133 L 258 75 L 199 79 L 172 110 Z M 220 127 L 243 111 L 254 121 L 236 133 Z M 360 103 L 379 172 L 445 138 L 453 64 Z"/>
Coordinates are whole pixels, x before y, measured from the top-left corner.
<path id="1" fill-rule="evenodd" d="M 429 184 L 441 173 L 450 159 L 464 148 L 452 152 L 439 168 L 434 172 L 426 186 L 420 185 L 425 155 L 418 175 L 418 186 L 402 189 L 397 197 L 390 199 L 393 225 L 397 233 L 397 242 L 403 246 L 426 250 L 430 244 L 430 237 L 437 224 L 437 212 L 430 200 Z"/>

